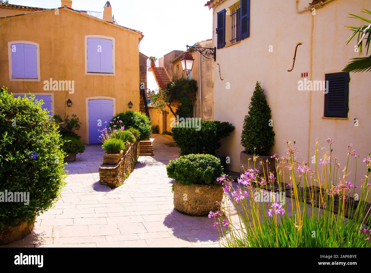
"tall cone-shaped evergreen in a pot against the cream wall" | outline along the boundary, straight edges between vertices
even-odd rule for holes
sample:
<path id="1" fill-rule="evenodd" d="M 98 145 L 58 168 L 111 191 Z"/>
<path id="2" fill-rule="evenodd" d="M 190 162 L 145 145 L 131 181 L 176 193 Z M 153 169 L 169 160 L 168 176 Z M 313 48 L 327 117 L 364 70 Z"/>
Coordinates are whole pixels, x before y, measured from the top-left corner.
<path id="1" fill-rule="evenodd" d="M 241 134 L 241 145 L 245 150 L 240 153 L 240 173 L 244 173 L 250 166 L 262 174 L 263 166 L 266 172 L 266 160 L 269 162 L 269 169 L 275 170 L 275 160 L 269 155 L 275 140 L 270 111 L 264 90 L 260 83 L 256 82 Z M 259 156 L 256 161 L 254 161 L 254 156 Z"/>

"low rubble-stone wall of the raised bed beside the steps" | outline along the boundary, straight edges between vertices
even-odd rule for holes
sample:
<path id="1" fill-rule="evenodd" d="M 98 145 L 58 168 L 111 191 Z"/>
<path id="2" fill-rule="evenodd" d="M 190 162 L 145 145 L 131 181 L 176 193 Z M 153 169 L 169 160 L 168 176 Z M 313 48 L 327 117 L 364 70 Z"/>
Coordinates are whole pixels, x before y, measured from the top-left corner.
<path id="1" fill-rule="evenodd" d="M 121 155 L 120 155 L 121 156 Z M 130 144 L 126 153 L 119 157 L 116 164 L 102 164 L 99 167 L 99 179 L 102 185 L 117 188 L 134 170 L 139 157 L 139 142 Z"/>

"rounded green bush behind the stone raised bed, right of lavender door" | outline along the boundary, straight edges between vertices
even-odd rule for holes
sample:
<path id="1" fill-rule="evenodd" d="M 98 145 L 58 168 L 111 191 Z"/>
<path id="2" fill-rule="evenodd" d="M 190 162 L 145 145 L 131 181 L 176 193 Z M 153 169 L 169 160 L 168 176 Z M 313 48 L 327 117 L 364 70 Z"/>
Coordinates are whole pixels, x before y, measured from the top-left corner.
<path id="1" fill-rule="evenodd" d="M 125 126 L 125 129 L 134 128 L 140 132 L 140 137 L 138 141 L 147 139 L 151 136 L 151 121 L 145 115 L 138 111 L 125 111 L 119 114 L 116 114 L 112 117 L 111 122 L 116 120 L 122 120 L 122 124 Z"/>

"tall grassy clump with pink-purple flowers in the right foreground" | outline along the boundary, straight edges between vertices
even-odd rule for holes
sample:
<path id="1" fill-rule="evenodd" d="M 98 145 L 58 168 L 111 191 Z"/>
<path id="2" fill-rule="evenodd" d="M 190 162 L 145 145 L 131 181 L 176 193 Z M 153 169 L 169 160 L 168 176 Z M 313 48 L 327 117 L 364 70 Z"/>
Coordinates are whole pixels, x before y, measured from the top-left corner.
<path id="1" fill-rule="evenodd" d="M 349 160 L 357 166 L 359 157 L 352 145 L 341 170 L 332 153 L 335 141 L 326 141 L 329 149 L 319 160 L 316 143 L 313 169 L 299 163 L 296 147 L 286 142 L 287 156 L 272 156 L 276 177 L 267 162 L 255 161 L 249 162 L 237 186 L 227 175 L 219 177 L 226 198 L 209 218 L 215 218 L 220 243 L 225 247 L 370 247 L 370 154 L 363 160 L 366 173 L 360 179 L 348 172 Z M 256 164 L 264 165 L 263 173 Z M 360 195 L 355 194 L 357 187 Z"/>

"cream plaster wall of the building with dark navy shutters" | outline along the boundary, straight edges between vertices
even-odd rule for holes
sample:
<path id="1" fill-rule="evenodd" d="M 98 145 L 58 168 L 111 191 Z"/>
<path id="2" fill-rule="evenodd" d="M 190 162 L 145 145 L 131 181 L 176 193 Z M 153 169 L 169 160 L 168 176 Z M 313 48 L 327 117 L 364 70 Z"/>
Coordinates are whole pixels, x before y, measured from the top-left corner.
<path id="1" fill-rule="evenodd" d="M 240 144 L 243 120 L 256 81 L 261 82 L 272 109 L 276 133 L 272 154 L 284 155 L 285 140 L 296 141 L 299 160 L 308 162 L 315 152 L 315 139 L 319 137 L 321 145 L 328 147 L 325 139 L 329 137 L 336 139 L 333 149 L 342 169 L 347 164 L 348 144 L 353 144 L 361 159 L 371 152 L 370 73 L 350 73 L 348 119 L 322 118 L 323 92 L 298 91 L 301 72 L 309 72 L 309 79 L 313 81 L 325 80 L 325 74 L 341 72 L 350 58 L 359 56 L 354 52 L 356 40 L 345 44 L 351 32 L 344 26 L 364 25 L 363 21 L 347 16 L 348 13 L 362 15 L 362 8 L 367 8 L 369 1 L 334 0 L 317 8 L 316 15 L 311 12 L 299 14 L 295 10 L 295 1 L 289 2 L 267 5 L 266 1 L 250 1 L 250 37 L 217 49 L 216 62 L 220 64 L 224 80 L 220 80 L 219 67 L 214 63 L 214 120 L 228 121 L 236 127 L 224 139 L 220 149 L 220 156 L 230 156 L 230 169 L 234 171 L 240 168 L 240 152 L 244 150 Z M 227 0 L 213 9 L 213 29 L 217 12 L 233 3 L 235 0 Z M 307 6 L 308 1 L 299 2 L 300 10 Z M 214 45 L 216 39 L 214 34 Z M 288 72 L 299 42 L 302 45 L 298 47 L 295 67 Z M 273 52 L 269 52 L 271 45 Z M 227 83 L 230 89 L 226 88 Z M 359 121 L 358 127 L 354 126 L 354 118 Z M 360 161 L 359 179 L 365 173 Z M 354 160 L 349 165 L 351 177 L 354 177 Z M 358 187 L 357 191 L 360 190 Z"/>

